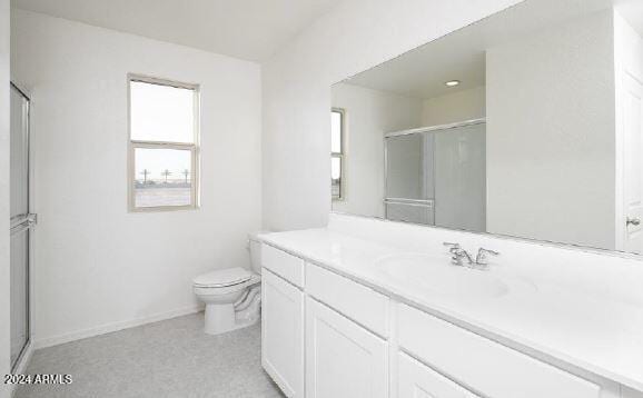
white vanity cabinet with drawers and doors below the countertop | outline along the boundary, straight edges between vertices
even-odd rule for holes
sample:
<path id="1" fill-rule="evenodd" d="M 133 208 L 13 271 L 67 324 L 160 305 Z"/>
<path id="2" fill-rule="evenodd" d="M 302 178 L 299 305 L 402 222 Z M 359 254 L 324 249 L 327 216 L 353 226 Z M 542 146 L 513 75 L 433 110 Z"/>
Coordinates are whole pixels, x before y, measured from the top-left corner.
<path id="1" fill-rule="evenodd" d="M 287 397 L 643 398 L 264 248 L 261 361 Z"/>

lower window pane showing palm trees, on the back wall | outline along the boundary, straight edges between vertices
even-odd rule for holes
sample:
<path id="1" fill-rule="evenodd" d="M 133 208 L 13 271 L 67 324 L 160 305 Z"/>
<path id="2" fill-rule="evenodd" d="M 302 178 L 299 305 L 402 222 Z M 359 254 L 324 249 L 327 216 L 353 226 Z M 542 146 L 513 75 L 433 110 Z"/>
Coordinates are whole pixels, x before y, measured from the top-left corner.
<path id="1" fill-rule="evenodd" d="M 191 205 L 190 150 L 135 148 L 135 206 Z"/>

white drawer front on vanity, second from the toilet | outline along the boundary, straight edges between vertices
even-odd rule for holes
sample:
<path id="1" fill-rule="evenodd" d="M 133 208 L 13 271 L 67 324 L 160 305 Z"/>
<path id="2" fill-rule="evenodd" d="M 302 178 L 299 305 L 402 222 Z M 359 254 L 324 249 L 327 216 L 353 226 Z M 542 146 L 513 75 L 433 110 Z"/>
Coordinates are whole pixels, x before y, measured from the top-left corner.
<path id="1" fill-rule="evenodd" d="M 388 297 L 311 263 L 306 265 L 306 292 L 370 331 L 388 337 Z"/>

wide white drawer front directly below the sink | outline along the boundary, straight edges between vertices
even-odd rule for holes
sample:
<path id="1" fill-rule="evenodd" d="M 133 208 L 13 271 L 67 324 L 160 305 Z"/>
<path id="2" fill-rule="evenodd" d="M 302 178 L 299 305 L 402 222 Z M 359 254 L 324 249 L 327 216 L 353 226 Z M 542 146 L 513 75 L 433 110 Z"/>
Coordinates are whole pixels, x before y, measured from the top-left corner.
<path id="1" fill-rule="evenodd" d="M 415 308 L 399 305 L 399 346 L 494 398 L 599 398 L 600 386 Z"/>

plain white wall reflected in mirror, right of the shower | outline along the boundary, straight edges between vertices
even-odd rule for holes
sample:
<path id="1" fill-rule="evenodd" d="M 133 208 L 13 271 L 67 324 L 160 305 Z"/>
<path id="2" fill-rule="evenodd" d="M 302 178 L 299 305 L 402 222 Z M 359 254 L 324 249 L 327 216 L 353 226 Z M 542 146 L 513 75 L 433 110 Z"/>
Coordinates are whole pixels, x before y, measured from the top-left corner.
<path id="1" fill-rule="evenodd" d="M 487 230 L 614 248 L 612 12 L 488 49 Z"/>

